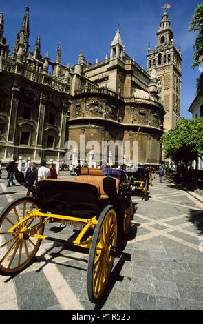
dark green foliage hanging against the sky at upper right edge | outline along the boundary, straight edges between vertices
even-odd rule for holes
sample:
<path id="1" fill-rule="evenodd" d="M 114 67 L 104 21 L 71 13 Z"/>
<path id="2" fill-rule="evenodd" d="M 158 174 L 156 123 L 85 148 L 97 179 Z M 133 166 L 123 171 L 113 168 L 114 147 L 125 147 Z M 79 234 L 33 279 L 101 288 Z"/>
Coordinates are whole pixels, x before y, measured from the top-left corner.
<path id="1" fill-rule="evenodd" d="M 189 30 L 197 33 L 195 44 L 193 45 L 195 49 L 193 54 L 193 67 L 195 67 L 200 64 L 199 59 L 203 55 L 203 3 L 200 3 L 195 9 Z"/>

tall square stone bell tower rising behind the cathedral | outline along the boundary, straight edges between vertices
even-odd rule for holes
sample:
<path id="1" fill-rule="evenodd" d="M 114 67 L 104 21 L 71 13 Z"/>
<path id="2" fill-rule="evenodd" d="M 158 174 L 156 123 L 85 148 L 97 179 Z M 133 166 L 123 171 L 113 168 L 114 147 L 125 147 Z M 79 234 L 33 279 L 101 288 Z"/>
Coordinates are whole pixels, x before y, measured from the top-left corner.
<path id="1" fill-rule="evenodd" d="M 157 45 L 151 50 L 150 43 L 147 49 L 147 72 L 156 70 L 161 103 L 166 112 L 164 117 L 164 132 L 175 125 L 180 117 L 181 96 L 181 51 L 173 42 L 173 32 L 166 9 L 156 33 Z"/>

